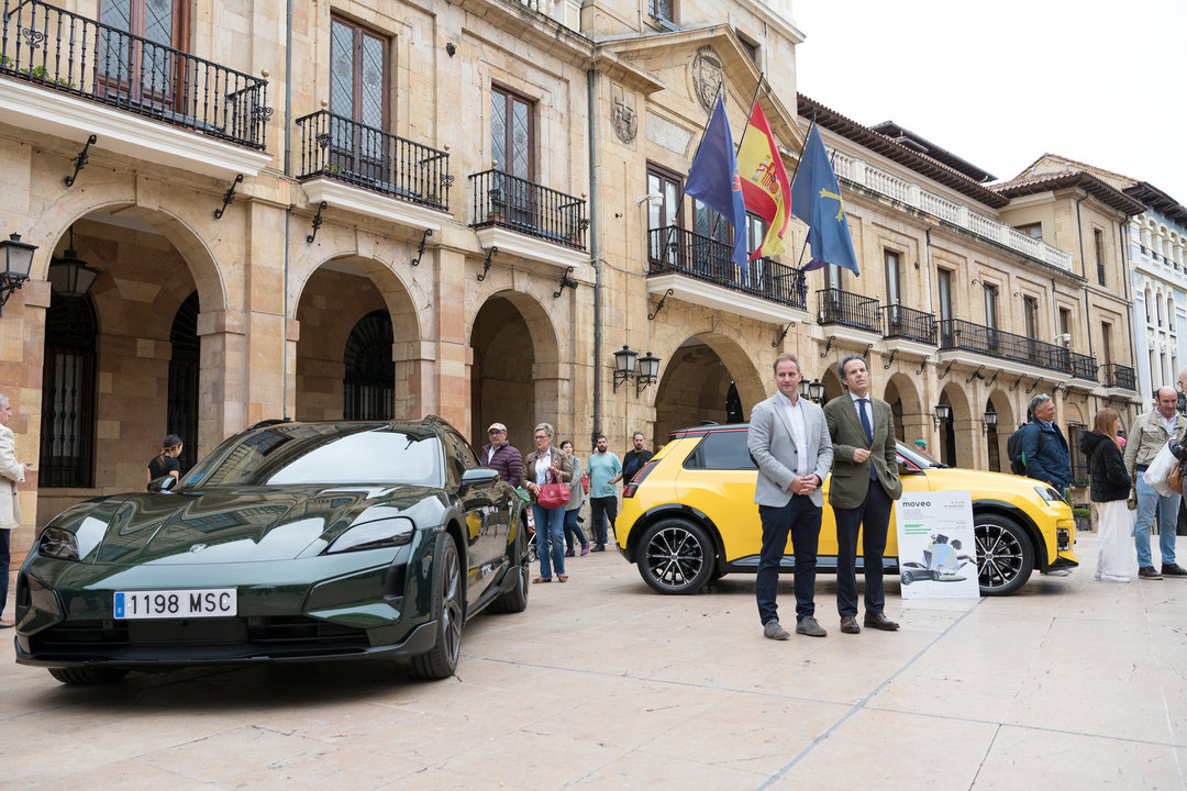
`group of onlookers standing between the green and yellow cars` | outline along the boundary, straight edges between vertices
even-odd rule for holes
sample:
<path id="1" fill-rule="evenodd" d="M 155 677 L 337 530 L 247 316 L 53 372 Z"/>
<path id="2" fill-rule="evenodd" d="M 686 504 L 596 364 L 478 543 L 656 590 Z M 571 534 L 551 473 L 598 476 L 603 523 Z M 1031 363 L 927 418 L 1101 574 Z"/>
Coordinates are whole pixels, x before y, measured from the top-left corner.
<path id="1" fill-rule="evenodd" d="M 652 458 L 652 452 L 643 447 L 642 432 L 635 432 L 634 447 L 621 460 L 609 449 L 604 434 L 595 435 L 594 451 L 584 460 L 573 452 L 572 440 L 563 440 L 554 447 L 556 430 L 550 423 L 540 423 L 532 430 L 535 449 L 526 457 L 510 444 L 504 425 L 491 423 L 487 436 L 490 441 L 482 447 L 480 460 L 497 470 L 531 504 L 531 524 L 540 557 L 540 574 L 532 580 L 537 583 L 551 582 L 553 574 L 557 581 L 567 581 L 566 557 L 605 551 L 608 525 L 614 529 L 618 513 L 617 484 L 629 481 Z M 557 484 L 567 486 L 567 502 L 558 503 L 554 492 L 546 490 Z M 586 500 L 589 537 L 582 529 Z"/>

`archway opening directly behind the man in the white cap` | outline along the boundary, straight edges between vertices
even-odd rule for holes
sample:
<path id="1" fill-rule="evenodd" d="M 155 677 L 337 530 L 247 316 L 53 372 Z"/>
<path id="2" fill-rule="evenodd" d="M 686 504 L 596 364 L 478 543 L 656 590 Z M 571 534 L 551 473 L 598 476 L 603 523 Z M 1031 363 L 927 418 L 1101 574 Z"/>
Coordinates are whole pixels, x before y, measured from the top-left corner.
<path id="1" fill-rule="evenodd" d="M 544 306 L 523 292 L 494 292 L 475 313 L 469 336 L 471 444 L 482 447 L 494 422 L 507 426 L 512 445 L 525 454 L 539 422 L 571 439 L 572 427 L 564 425 L 571 415 L 561 412 L 560 338 Z"/>

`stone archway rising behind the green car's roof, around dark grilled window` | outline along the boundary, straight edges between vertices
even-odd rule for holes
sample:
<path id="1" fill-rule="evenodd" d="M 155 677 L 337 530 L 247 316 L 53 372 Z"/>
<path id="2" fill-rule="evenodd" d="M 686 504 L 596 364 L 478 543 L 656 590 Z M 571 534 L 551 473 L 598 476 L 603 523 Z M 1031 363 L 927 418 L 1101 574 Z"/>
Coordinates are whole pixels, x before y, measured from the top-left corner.
<path id="1" fill-rule="evenodd" d="M 420 417 L 432 362 L 423 359 L 420 319 L 396 273 L 374 259 L 344 254 L 307 270 L 294 286 L 294 416 L 342 420 L 347 340 L 363 317 L 381 310 L 392 320 L 393 417 Z"/>

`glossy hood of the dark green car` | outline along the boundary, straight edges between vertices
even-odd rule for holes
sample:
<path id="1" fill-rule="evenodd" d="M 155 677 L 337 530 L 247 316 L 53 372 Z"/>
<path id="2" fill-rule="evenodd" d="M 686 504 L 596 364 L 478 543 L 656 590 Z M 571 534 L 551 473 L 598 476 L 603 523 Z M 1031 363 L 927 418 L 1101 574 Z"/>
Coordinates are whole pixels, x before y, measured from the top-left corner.
<path id="1" fill-rule="evenodd" d="M 210 489 L 91 500 L 59 516 L 93 563 L 235 563 L 312 556 L 355 524 L 402 516 L 439 523 L 447 505 L 424 486 Z"/>

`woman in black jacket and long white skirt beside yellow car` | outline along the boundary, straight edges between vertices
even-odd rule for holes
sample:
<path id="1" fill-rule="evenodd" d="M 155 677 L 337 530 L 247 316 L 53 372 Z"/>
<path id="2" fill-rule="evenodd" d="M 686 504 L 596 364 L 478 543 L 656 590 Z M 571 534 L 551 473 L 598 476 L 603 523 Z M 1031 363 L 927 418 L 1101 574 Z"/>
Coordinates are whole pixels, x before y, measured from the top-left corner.
<path id="1" fill-rule="evenodd" d="M 1137 573 L 1134 557 L 1134 527 L 1137 513 L 1126 499 L 1130 478 L 1117 442 L 1121 415 L 1105 407 L 1097 413 L 1091 432 L 1080 432 L 1080 451 L 1092 470 L 1092 502 L 1098 504 L 1100 548 L 1096 578 L 1103 582 L 1129 582 Z"/>

